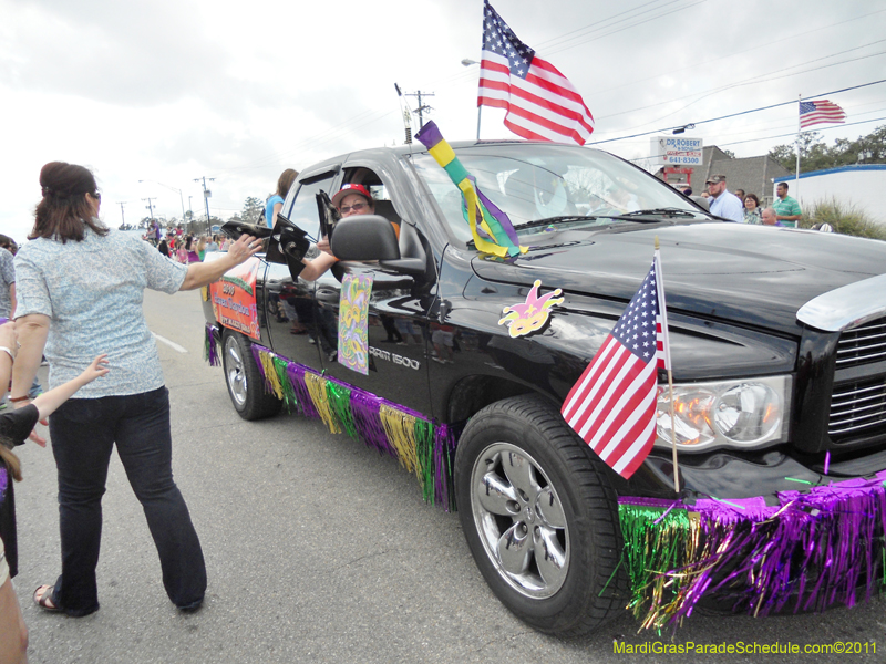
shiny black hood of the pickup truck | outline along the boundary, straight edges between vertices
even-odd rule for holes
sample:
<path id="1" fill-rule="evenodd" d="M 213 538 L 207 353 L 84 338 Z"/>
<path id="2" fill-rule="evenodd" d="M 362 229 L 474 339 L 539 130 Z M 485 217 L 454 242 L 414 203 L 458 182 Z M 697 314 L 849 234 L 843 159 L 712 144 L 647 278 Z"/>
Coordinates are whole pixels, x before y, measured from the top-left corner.
<path id="1" fill-rule="evenodd" d="M 533 235 L 516 258 L 478 257 L 477 277 L 562 288 L 626 303 L 652 263 L 659 238 L 670 311 L 797 334 L 796 311 L 808 300 L 886 273 L 886 242 L 836 234 L 723 222 Z M 886 300 L 886 294 L 884 294 Z"/>

